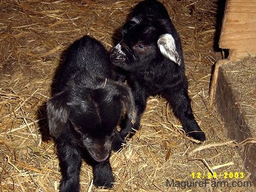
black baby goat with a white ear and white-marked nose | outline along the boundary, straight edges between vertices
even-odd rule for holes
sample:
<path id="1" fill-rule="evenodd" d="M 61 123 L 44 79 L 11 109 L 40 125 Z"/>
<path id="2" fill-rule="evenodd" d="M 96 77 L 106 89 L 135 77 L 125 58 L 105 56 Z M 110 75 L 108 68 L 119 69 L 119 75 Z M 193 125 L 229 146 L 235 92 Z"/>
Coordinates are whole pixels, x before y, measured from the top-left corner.
<path id="1" fill-rule="evenodd" d="M 131 86 L 137 112 L 134 129 L 140 128 L 147 97 L 161 94 L 172 105 L 184 131 L 205 140 L 191 109 L 180 38 L 163 4 L 146 0 L 135 6 L 122 28 L 122 40 L 111 51 L 111 61 L 119 79 L 126 79 Z M 129 124 L 121 132 L 124 138 L 127 134 L 134 134 Z"/>

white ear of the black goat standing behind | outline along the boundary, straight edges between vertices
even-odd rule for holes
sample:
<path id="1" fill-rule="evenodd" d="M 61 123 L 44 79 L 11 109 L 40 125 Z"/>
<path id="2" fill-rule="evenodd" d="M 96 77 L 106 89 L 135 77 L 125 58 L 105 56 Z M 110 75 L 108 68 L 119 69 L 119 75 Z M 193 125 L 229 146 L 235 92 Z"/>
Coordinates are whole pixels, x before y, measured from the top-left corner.
<path id="1" fill-rule="evenodd" d="M 178 65 L 181 65 L 181 59 L 176 49 L 175 40 L 171 34 L 166 33 L 159 36 L 157 45 L 160 49 L 160 52 L 166 56 L 166 58 L 172 60 Z"/>

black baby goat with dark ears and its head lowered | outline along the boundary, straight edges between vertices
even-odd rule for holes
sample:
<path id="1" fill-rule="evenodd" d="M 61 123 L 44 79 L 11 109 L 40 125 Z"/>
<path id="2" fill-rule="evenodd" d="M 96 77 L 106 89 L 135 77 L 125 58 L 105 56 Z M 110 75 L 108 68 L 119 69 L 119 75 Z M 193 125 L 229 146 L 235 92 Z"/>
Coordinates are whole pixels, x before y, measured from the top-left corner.
<path id="1" fill-rule="evenodd" d="M 93 167 L 95 186 L 113 186 L 109 156 L 124 142 L 116 130 L 123 104 L 131 121 L 135 116 L 130 88 L 114 79 L 100 42 L 84 36 L 68 48 L 47 102 L 49 131 L 60 159 L 60 191 L 79 191 L 82 159 Z"/>

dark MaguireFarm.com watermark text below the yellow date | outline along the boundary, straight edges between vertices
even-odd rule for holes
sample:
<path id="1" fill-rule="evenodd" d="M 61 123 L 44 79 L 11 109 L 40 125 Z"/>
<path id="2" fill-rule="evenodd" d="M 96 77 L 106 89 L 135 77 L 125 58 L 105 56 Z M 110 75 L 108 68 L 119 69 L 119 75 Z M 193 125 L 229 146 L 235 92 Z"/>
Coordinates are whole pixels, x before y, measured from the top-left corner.
<path id="1" fill-rule="evenodd" d="M 224 188 L 224 187 L 239 187 L 239 188 L 250 188 L 252 187 L 252 182 L 250 181 L 223 181 L 223 180 L 210 180 L 210 179 L 204 179 L 204 180 L 183 180 L 183 181 L 175 181 L 174 179 L 166 179 L 166 187 L 170 188 L 193 188 L 193 187 L 199 187 L 203 188 L 206 186 L 211 185 L 212 188 Z"/>

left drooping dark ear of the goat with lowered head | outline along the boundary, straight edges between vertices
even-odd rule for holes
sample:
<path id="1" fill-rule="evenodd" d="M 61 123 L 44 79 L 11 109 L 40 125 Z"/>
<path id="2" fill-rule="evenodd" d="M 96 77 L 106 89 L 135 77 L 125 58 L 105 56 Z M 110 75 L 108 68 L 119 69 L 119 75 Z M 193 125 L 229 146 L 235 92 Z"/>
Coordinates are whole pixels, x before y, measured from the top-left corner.
<path id="1" fill-rule="evenodd" d="M 70 109 L 67 106 L 65 97 L 63 97 L 63 93 L 58 93 L 48 100 L 47 118 L 51 136 L 58 138 L 68 122 L 69 113 Z"/>

